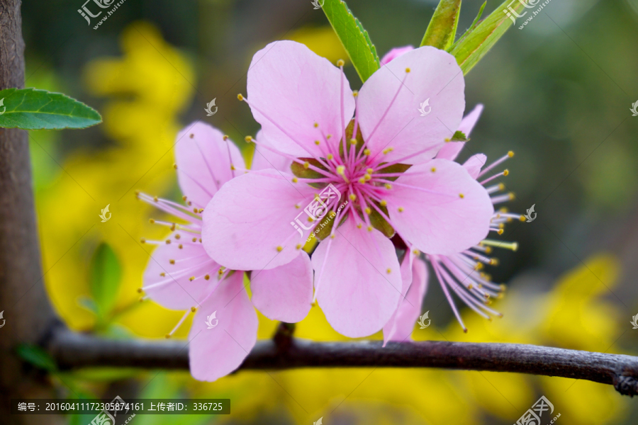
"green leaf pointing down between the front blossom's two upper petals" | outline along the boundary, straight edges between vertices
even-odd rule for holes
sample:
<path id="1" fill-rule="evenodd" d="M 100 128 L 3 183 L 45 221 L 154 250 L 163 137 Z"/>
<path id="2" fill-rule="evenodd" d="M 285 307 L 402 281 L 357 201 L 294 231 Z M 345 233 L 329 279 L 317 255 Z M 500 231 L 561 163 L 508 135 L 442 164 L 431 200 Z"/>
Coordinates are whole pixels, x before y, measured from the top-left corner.
<path id="1" fill-rule="evenodd" d="M 357 69 L 357 74 L 365 82 L 379 69 L 379 56 L 376 55 L 376 47 L 372 44 L 368 32 L 364 30 L 359 19 L 352 16 L 352 12 L 342 0 L 325 0 L 323 13 L 345 47 L 354 69 Z"/>

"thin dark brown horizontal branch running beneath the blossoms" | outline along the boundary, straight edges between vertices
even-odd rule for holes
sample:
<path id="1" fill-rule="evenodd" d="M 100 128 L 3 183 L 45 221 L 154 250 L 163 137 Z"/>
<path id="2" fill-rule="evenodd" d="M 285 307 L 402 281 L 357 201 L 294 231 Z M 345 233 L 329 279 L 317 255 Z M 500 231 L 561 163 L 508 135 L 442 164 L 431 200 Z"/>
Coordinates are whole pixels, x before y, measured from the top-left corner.
<path id="1" fill-rule="evenodd" d="M 48 345 L 60 368 L 116 366 L 187 369 L 186 341 L 109 340 L 59 331 Z M 293 339 L 284 350 L 275 341 L 258 341 L 240 369 L 442 368 L 529 373 L 614 385 L 638 395 L 638 357 L 591 353 L 524 344 L 381 341 L 312 342 Z"/>

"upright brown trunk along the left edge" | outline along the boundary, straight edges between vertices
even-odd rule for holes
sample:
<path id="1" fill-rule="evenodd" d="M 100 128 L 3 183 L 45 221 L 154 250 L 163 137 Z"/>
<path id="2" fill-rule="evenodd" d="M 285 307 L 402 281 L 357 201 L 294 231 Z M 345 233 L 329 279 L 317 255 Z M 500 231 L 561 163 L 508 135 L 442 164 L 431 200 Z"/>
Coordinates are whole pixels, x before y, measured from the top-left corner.
<path id="1" fill-rule="evenodd" d="M 20 0 L 0 0 L 0 89 L 24 86 Z M 57 416 L 11 416 L 9 400 L 55 397 L 45 376 L 16 356 L 18 344 L 38 344 L 54 326 L 35 225 L 28 135 L 0 128 L 0 423 L 55 424 Z M 0 325 L 2 324 L 0 319 Z"/>

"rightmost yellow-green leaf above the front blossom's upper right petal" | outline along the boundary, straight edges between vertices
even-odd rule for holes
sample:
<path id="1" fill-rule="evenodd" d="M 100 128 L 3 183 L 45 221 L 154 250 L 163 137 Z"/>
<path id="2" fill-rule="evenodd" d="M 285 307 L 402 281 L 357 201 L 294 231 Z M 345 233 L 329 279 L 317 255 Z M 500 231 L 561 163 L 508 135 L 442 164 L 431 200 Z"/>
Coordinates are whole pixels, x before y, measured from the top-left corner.
<path id="1" fill-rule="evenodd" d="M 511 3 L 511 0 L 505 0 L 490 13 L 490 16 L 479 23 L 471 33 L 450 50 L 450 53 L 457 58 L 463 74 L 467 74 L 512 26 L 512 20 L 503 13 L 503 9 L 507 9 Z M 518 1 L 513 4 L 512 8 L 518 13 L 524 6 Z"/>

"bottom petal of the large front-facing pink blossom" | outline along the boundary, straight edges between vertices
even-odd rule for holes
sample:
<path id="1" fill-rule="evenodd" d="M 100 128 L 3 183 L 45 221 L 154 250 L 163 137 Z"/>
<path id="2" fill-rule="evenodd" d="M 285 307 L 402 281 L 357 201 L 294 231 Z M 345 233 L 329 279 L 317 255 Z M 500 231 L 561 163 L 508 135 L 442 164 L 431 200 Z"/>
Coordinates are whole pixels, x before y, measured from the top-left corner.
<path id="1" fill-rule="evenodd" d="M 376 229 L 357 229 L 349 217 L 335 239 L 319 244 L 312 261 L 317 301 L 335 331 L 357 338 L 388 322 L 401 295 L 401 271 L 390 239 Z"/>

